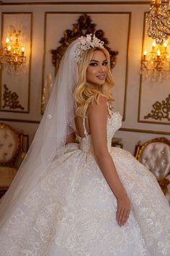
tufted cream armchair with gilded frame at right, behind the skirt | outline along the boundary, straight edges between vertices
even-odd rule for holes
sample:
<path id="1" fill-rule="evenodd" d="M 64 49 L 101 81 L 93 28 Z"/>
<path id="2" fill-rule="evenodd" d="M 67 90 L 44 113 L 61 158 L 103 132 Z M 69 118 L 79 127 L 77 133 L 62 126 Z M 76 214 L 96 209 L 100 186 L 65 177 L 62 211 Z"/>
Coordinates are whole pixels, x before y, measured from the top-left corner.
<path id="1" fill-rule="evenodd" d="M 135 158 L 143 163 L 158 180 L 164 195 L 170 202 L 168 185 L 170 184 L 170 140 L 159 137 L 138 145 L 135 148 Z"/>

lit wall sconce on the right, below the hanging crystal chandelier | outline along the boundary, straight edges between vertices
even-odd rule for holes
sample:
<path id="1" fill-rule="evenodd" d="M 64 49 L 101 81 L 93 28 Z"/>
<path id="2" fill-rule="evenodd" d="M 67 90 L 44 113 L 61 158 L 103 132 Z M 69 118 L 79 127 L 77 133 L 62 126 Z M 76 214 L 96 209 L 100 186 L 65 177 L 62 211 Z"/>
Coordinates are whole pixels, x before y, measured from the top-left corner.
<path id="1" fill-rule="evenodd" d="M 170 78 L 170 55 L 167 52 L 167 43 L 163 46 L 156 46 L 154 40 L 151 52 L 149 54 L 146 50 L 143 52 L 140 74 L 144 78 L 150 77 L 151 82 L 162 82 Z"/>

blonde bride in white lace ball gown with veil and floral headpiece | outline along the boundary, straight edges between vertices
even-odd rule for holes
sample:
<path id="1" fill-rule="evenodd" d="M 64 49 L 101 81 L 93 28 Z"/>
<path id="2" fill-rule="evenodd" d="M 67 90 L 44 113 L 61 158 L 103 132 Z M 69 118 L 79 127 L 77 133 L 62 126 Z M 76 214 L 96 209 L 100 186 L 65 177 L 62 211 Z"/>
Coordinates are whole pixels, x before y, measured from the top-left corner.
<path id="1" fill-rule="evenodd" d="M 35 139 L 0 204 L 1 256 L 170 255 L 170 208 L 156 178 L 112 148 L 103 42 L 71 43 Z M 75 136 L 79 143 L 75 142 Z"/>

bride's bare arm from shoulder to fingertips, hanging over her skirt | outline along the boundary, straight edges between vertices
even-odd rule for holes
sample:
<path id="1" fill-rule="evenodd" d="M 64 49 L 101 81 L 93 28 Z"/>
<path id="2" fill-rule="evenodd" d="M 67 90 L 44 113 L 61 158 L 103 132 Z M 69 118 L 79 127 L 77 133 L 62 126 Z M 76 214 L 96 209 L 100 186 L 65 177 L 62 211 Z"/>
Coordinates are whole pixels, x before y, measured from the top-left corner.
<path id="1" fill-rule="evenodd" d="M 88 109 L 89 126 L 99 168 L 102 171 L 110 189 L 117 198 L 117 222 L 122 226 L 130 213 L 130 200 L 125 188 L 117 174 L 115 164 L 107 149 L 107 101 L 104 97 L 99 98 L 99 104 L 91 104 Z"/>

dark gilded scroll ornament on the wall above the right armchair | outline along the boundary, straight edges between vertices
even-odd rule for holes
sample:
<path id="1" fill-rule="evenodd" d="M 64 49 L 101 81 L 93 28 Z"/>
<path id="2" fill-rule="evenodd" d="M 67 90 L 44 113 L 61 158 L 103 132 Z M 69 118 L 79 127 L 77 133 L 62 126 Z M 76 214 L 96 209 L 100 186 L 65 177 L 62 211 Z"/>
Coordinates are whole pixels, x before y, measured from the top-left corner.
<path id="1" fill-rule="evenodd" d="M 162 120 L 167 119 L 170 121 L 170 94 L 166 98 L 165 101 L 156 101 L 153 105 L 153 109 L 151 110 L 151 113 L 149 113 L 147 116 L 144 116 L 144 119 L 156 119 L 156 120 Z"/>

